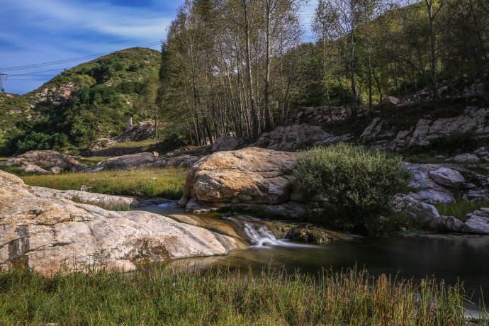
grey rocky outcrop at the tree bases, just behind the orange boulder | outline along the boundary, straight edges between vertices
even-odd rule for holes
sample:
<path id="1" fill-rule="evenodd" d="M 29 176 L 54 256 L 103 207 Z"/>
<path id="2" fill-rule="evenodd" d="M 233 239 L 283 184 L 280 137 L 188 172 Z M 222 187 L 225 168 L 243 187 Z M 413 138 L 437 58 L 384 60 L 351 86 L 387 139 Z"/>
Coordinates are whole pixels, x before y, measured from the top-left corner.
<path id="1" fill-rule="evenodd" d="M 277 127 L 271 133 L 264 133 L 254 144 L 269 150 L 300 150 L 313 145 L 330 145 L 347 142 L 350 135 L 335 136 L 315 125 L 288 125 Z"/>

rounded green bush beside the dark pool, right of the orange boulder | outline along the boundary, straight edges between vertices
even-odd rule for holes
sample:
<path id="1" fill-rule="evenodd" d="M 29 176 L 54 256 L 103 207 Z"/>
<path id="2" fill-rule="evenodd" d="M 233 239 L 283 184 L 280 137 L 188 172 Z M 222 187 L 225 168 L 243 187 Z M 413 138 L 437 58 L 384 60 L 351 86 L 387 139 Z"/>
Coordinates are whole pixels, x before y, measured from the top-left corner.
<path id="1" fill-rule="evenodd" d="M 368 230 L 379 215 L 390 213 L 393 195 L 406 189 L 409 172 L 398 157 L 339 144 L 303 152 L 294 176 L 306 196 L 325 198 L 336 220 L 325 222 Z"/>

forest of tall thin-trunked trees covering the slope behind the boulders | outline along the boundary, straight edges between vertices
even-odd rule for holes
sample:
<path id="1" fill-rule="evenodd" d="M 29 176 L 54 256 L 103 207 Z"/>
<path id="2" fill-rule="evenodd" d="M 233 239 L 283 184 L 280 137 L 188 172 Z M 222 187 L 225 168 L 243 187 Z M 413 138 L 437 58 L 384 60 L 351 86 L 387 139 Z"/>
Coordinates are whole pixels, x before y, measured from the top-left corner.
<path id="1" fill-rule="evenodd" d="M 485 0 L 320 0 L 303 42 L 296 0 L 187 0 L 162 45 L 154 116 L 194 144 L 248 140 L 297 106 L 347 108 L 355 119 L 386 96 L 488 68 Z M 484 81 L 487 84 L 487 81 Z M 485 85 L 487 86 L 487 85 Z"/>

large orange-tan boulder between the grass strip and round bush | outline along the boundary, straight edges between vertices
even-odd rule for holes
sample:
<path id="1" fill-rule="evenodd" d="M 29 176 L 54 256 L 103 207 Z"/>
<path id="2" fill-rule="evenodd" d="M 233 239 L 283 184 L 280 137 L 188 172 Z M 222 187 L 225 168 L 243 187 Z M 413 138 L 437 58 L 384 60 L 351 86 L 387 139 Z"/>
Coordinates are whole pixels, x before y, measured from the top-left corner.
<path id="1" fill-rule="evenodd" d="M 217 152 L 193 165 L 187 174 L 184 200 L 213 207 L 236 206 L 274 215 L 297 213 L 291 203 L 291 170 L 297 154 L 261 148 Z M 191 200 L 194 201 L 191 201 Z M 190 201 L 190 202 L 189 202 Z"/>

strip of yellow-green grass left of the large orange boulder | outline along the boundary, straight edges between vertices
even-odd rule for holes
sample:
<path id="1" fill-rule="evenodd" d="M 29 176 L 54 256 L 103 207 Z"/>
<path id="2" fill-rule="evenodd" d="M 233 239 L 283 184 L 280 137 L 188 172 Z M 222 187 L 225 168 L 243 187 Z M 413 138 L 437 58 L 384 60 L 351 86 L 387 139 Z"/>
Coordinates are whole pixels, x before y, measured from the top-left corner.
<path id="1" fill-rule="evenodd" d="M 64 173 L 21 176 L 29 186 L 60 190 L 80 190 L 87 186 L 95 193 L 179 199 L 182 196 L 186 169 L 139 169 L 97 173 Z"/>

